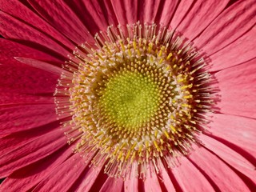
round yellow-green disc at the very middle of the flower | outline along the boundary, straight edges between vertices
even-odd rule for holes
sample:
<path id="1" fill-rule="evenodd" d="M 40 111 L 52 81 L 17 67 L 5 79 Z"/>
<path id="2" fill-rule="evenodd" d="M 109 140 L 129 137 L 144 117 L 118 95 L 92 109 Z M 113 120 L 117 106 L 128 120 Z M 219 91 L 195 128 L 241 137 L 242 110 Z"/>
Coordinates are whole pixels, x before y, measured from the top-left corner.
<path id="1" fill-rule="evenodd" d="M 160 94 L 149 76 L 125 71 L 110 78 L 99 102 L 111 122 L 136 128 L 155 115 Z"/>

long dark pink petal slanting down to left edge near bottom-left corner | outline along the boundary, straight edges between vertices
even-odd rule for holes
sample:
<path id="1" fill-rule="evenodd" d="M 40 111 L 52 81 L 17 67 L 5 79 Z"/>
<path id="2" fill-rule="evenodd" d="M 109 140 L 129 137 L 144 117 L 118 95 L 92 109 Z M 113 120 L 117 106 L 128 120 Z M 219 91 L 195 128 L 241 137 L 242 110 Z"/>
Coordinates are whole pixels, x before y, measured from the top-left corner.
<path id="1" fill-rule="evenodd" d="M 66 144 L 66 137 L 61 129 L 55 129 L 49 134 L 27 143 L 25 146 L 3 154 L 0 158 L 0 177 L 6 177 L 24 166 L 39 159 L 45 158 L 47 155 L 54 153 Z"/>

